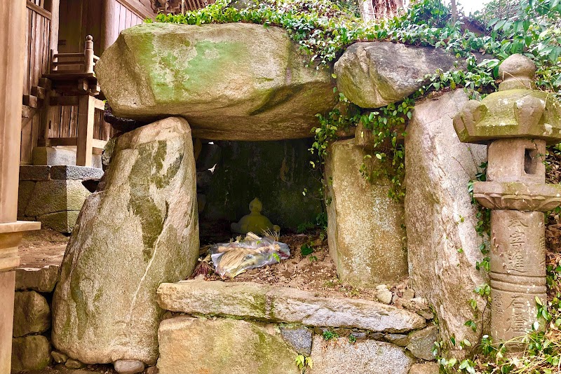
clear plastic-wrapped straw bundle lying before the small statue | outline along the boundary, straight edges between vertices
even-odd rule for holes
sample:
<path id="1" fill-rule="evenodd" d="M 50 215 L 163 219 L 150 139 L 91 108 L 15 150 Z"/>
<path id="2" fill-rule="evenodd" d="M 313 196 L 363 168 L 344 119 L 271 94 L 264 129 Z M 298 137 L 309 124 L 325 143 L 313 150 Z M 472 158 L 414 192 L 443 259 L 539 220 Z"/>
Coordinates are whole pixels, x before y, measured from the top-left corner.
<path id="1" fill-rule="evenodd" d="M 245 270 L 287 259 L 290 249 L 287 244 L 249 233 L 245 240 L 213 245 L 210 257 L 220 277 L 234 278 Z"/>

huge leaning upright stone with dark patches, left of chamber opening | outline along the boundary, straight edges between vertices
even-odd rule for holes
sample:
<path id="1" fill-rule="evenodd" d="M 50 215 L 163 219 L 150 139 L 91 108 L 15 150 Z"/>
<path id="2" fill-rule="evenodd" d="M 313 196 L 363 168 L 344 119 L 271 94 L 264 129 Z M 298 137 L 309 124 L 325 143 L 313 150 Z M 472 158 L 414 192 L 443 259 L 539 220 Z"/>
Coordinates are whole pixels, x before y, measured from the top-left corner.
<path id="1" fill-rule="evenodd" d="M 70 237 L 53 297 L 53 344 L 84 363 L 154 364 L 162 282 L 198 256 L 195 165 L 186 120 L 167 118 L 117 139 L 103 184 Z"/>

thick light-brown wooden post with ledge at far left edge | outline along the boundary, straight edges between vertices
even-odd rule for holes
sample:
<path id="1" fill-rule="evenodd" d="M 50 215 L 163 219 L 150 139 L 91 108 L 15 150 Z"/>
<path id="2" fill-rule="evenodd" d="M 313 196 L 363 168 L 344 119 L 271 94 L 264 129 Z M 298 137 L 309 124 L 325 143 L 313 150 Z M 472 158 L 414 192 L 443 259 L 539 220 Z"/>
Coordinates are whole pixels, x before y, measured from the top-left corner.
<path id="1" fill-rule="evenodd" d="M 23 230 L 17 222 L 26 1 L 0 1 L 0 373 L 11 371 L 13 297 Z"/>

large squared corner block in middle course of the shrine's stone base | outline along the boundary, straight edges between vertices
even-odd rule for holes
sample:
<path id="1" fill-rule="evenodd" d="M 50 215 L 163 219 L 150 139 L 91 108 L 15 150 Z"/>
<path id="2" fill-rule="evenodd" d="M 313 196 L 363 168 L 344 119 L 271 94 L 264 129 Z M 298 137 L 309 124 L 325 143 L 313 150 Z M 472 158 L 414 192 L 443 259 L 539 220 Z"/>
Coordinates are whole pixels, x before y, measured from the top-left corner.
<path id="1" fill-rule="evenodd" d="M 67 210 L 79 211 L 89 195 L 90 191 L 81 181 L 38 181 L 25 215 L 36 217 Z"/>

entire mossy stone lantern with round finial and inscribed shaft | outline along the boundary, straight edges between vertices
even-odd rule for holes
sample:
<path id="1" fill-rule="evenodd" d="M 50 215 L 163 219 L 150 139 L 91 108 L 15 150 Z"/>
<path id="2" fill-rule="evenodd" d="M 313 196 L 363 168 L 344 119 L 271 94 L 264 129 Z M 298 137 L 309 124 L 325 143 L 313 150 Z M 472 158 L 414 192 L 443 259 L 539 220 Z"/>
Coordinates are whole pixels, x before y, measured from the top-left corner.
<path id="1" fill-rule="evenodd" d="M 494 341 L 518 338 L 537 320 L 536 297 L 546 305 L 543 212 L 561 204 L 561 186 L 546 184 L 546 144 L 561 141 L 561 104 L 535 89 L 536 66 L 513 55 L 499 67 L 499 91 L 469 101 L 454 117 L 461 141 L 489 144 L 487 181 L 475 199 L 492 209 L 490 286 Z M 541 328 L 544 328 L 541 324 Z"/>

